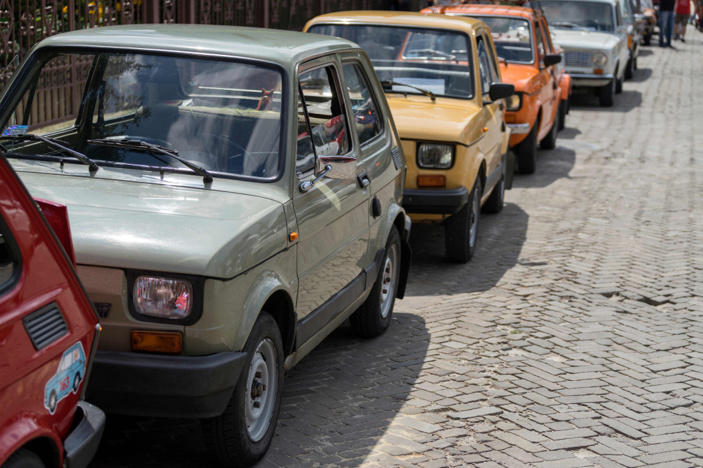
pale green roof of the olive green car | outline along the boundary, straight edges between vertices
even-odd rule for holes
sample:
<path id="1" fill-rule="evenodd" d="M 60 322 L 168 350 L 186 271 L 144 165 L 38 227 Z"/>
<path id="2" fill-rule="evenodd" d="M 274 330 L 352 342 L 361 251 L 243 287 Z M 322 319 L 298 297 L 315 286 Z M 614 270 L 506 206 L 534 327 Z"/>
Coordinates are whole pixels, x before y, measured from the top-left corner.
<path id="1" fill-rule="evenodd" d="M 318 34 L 213 25 L 93 27 L 57 34 L 44 39 L 39 45 L 203 53 L 260 59 L 284 66 L 319 53 L 359 48 L 354 42 Z"/>

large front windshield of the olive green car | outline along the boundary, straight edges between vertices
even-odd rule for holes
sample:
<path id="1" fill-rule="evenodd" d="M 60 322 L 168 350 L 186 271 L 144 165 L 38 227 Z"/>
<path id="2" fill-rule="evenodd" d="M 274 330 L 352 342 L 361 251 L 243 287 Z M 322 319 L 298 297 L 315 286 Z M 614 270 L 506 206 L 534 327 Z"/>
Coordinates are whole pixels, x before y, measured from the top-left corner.
<path id="1" fill-rule="evenodd" d="M 249 63 L 120 53 L 52 53 L 37 59 L 4 135 L 34 134 L 101 164 L 192 172 L 143 141 L 212 174 L 259 178 L 280 171 L 281 75 Z M 37 138 L 0 142 L 12 157 L 60 158 Z M 74 158 L 75 159 L 75 158 Z"/>

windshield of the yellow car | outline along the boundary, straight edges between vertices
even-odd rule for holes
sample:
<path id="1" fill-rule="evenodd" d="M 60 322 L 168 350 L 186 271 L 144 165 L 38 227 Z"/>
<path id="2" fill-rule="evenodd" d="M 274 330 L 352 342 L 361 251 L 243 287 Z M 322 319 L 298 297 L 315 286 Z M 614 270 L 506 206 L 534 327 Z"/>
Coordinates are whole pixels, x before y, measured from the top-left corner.
<path id="1" fill-rule="evenodd" d="M 365 48 L 381 82 L 392 83 L 391 91 L 474 96 L 472 52 L 465 34 L 381 25 L 314 25 L 309 32 L 342 37 Z"/>

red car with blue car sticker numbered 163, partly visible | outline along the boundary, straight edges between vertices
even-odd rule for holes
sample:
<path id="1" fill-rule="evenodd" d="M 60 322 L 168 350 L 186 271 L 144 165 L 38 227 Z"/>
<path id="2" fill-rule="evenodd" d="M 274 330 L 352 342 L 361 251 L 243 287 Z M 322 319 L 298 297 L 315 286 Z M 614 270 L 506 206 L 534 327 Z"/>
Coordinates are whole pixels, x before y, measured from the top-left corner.
<path id="1" fill-rule="evenodd" d="M 105 427 L 82 401 L 99 331 L 66 208 L 32 200 L 0 155 L 1 468 L 86 467 Z"/>

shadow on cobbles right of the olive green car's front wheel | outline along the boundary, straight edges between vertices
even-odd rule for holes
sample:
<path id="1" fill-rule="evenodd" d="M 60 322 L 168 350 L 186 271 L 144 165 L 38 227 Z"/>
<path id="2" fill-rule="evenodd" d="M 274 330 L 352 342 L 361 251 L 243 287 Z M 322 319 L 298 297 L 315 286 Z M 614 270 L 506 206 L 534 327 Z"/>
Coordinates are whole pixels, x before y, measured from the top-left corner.
<path id="1" fill-rule="evenodd" d="M 265 459 L 276 464 L 261 466 L 361 465 L 413 391 L 429 344 L 425 320 L 411 313 L 394 312 L 375 339 L 360 339 L 346 324 L 337 328 L 288 373 Z M 296 450 L 302 458 L 290 456 Z"/>

